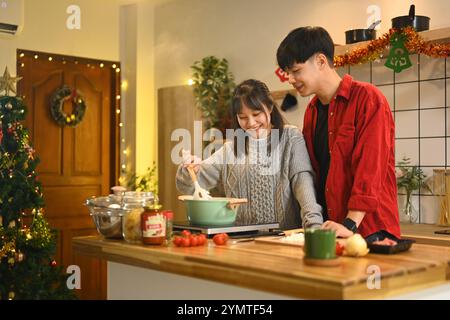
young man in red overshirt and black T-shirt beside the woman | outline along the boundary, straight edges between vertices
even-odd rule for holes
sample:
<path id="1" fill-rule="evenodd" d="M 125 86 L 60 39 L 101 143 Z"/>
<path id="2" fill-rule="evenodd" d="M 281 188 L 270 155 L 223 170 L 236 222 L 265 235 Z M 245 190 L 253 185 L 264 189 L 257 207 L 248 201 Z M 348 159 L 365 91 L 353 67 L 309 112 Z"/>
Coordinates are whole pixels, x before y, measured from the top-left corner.
<path id="1" fill-rule="evenodd" d="M 395 128 L 389 104 L 369 83 L 341 78 L 334 44 L 321 27 L 291 31 L 277 51 L 280 68 L 302 97 L 303 135 L 316 172 L 322 228 L 338 237 L 385 230 L 400 237 L 395 177 Z"/>

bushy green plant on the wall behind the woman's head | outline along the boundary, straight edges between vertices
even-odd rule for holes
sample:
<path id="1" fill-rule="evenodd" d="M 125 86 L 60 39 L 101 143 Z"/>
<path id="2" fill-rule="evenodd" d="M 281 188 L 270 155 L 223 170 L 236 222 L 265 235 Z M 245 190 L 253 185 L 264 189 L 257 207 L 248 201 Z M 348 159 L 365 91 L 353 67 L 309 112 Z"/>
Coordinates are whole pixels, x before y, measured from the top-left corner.
<path id="1" fill-rule="evenodd" d="M 191 66 L 194 96 L 205 120 L 205 129 L 217 128 L 225 133 L 231 126 L 229 106 L 235 84 L 228 61 L 208 56 Z"/>

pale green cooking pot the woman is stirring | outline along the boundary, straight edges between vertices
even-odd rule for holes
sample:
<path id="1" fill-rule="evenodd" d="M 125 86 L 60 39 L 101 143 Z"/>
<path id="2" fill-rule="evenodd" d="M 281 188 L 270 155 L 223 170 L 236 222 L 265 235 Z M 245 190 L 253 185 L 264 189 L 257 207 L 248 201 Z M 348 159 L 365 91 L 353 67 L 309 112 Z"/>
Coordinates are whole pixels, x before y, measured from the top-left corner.
<path id="1" fill-rule="evenodd" d="M 212 198 L 194 200 L 192 196 L 179 196 L 186 204 L 187 219 L 194 225 L 226 226 L 236 221 L 237 209 L 247 199 Z"/>

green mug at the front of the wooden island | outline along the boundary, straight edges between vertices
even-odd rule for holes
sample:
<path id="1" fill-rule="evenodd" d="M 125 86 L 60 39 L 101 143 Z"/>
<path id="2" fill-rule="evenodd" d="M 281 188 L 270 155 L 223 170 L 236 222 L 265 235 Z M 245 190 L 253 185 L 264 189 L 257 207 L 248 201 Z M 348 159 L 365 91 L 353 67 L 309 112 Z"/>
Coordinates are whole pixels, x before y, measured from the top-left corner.
<path id="1" fill-rule="evenodd" d="M 306 229 L 303 250 L 308 259 L 335 259 L 336 233 L 333 230 Z"/>

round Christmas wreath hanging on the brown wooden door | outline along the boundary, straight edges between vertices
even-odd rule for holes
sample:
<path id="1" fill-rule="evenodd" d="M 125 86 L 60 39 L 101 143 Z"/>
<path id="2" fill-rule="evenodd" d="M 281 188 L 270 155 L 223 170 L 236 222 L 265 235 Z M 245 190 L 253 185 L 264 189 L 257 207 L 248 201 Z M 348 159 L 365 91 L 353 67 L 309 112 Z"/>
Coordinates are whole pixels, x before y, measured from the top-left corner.
<path id="1" fill-rule="evenodd" d="M 66 114 L 62 109 L 64 102 L 71 100 L 74 105 L 71 114 Z M 50 113 L 53 120 L 60 126 L 77 126 L 84 117 L 86 112 L 86 103 L 77 89 L 71 89 L 68 86 L 63 86 L 56 90 L 50 99 Z"/>

